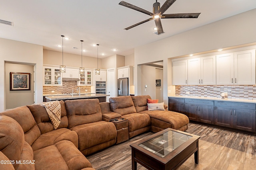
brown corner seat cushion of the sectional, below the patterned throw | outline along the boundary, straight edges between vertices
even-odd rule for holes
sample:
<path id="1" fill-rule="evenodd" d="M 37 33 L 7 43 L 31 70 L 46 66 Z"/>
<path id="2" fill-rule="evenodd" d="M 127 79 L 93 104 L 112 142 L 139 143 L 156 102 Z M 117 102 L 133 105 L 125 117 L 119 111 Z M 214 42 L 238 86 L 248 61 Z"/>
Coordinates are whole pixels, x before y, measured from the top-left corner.
<path id="1" fill-rule="evenodd" d="M 56 129 L 40 135 L 40 137 L 34 141 L 31 147 L 35 151 L 50 145 L 54 145 L 63 140 L 71 141 L 76 147 L 78 147 L 78 135 L 75 131 L 71 131 L 70 129 L 66 128 Z"/>

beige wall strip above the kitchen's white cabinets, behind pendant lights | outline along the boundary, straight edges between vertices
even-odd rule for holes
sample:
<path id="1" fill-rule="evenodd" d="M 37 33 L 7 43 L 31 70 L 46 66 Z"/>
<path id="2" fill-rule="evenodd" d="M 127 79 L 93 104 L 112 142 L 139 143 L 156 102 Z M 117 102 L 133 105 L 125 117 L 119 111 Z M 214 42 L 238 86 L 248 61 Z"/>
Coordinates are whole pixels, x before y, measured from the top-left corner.
<path id="1" fill-rule="evenodd" d="M 99 68 L 102 68 L 102 59 L 99 59 Z M 44 49 L 44 64 L 62 65 L 62 52 Z M 70 67 L 81 67 L 81 55 L 63 53 L 63 64 Z M 97 58 L 83 56 L 83 67 L 97 68 Z"/>

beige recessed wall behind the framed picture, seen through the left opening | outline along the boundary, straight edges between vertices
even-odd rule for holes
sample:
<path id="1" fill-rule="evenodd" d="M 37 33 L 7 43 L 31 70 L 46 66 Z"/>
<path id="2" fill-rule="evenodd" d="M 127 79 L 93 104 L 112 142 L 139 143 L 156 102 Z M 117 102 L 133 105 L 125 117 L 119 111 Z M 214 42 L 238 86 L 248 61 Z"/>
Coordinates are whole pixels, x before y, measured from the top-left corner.
<path id="1" fill-rule="evenodd" d="M 10 91 L 10 72 L 30 73 L 30 90 Z M 34 66 L 5 64 L 6 109 L 34 104 Z"/>

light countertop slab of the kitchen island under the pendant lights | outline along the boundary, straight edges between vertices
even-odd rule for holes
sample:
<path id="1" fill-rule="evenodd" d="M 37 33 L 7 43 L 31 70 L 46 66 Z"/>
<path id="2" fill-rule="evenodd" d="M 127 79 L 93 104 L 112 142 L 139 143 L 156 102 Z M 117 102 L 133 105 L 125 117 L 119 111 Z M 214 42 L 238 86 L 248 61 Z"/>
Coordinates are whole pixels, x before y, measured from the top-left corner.
<path id="1" fill-rule="evenodd" d="M 45 98 L 48 100 L 72 100 L 72 99 L 86 99 L 86 98 L 98 98 L 98 97 L 106 97 L 110 96 L 109 94 L 81 94 L 79 95 L 60 95 L 60 96 L 46 96 Z"/>

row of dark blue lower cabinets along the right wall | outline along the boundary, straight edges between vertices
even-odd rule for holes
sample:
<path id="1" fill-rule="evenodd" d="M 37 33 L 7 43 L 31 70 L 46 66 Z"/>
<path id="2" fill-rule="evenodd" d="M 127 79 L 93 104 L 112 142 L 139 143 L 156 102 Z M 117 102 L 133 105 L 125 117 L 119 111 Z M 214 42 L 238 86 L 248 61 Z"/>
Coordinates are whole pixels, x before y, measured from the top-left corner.
<path id="1" fill-rule="evenodd" d="M 191 121 L 252 132 L 256 135 L 254 103 L 169 98 L 169 110 L 184 113 Z"/>

